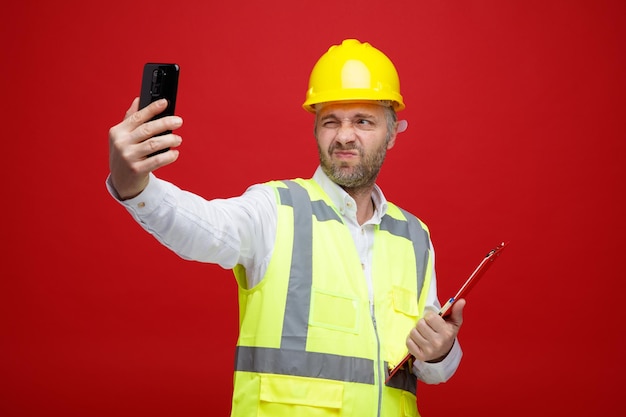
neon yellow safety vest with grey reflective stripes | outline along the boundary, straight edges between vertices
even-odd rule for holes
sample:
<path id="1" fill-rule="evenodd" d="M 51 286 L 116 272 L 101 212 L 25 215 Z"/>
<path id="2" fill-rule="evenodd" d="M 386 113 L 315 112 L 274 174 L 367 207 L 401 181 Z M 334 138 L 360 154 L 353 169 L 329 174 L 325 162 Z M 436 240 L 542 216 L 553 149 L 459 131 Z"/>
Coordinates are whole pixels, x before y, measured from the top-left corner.
<path id="1" fill-rule="evenodd" d="M 388 203 L 376 226 L 375 310 L 349 229 L 313 180 L 276 190 L 276 243 L 261 282 L 239 283 L 235 417 L 418 416 L 407 353 L 423 313 L 432 269 L 427 227 Z"/>

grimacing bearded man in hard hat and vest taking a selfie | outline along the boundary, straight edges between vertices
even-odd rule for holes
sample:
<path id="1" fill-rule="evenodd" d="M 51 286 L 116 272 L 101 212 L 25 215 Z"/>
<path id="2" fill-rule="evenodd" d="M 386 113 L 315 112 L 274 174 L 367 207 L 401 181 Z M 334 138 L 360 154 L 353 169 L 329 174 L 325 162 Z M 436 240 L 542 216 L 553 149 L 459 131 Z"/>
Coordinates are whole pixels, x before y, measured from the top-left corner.
<path id="1" fill-rule="evenodd" d="M 446 381 L 462 353 L 464 300 L 437 300 L 428 229 L 375 184 L 406 122 L 399 80 L 379 50 L 331 47 L 310 77 L 320 167 L 207 201 L 157 179 L 174 162 L 177 116 L 135 100 L 110 130 L 107 185 L 131 215 L 185 259 L 234 270 L 240 328 L 233 416 L 418 415 L 416 382 Z M 165 153 L 147 158 L 163 148 Z M 389 381 L 408 351 L 415 358 Z"/>

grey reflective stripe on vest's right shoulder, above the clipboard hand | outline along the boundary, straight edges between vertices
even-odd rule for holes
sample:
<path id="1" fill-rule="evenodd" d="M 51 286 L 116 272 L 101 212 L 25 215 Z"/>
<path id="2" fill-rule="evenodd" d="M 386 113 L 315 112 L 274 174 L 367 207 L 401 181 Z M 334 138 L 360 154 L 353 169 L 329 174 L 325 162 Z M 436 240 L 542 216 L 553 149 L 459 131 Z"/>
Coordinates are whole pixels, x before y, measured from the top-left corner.
<path id="1" fill-rule="evenodd" d="M 415 216 L 400 208 L 405 220 L 394 219 L 384 215 L 380 221 L 380 230 L 392 235 L 404 237 L 413 242 L 415 253 L 415 271 L 417 271 L 417 299 L 419 300 L 426 279 L 426 265 L 428 265 L 428 249 L 430 247 L 428 233 Z"/>

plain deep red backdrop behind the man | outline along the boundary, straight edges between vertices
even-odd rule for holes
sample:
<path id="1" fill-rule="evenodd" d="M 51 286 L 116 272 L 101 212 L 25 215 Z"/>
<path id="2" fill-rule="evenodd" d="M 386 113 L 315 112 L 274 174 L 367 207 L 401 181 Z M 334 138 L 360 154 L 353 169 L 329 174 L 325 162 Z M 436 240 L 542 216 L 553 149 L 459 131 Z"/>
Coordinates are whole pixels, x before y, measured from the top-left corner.
<path id="1" fill-rule="evenodd" d="M 181 158 L 207 198 L 307 177 L 300 105 L 355 37 L 401 76 L 409 129 L 380 177 L 469 297 L 465 356 L 424 416 L 622 416 L 626 3 L 10 2 L 3 7 L 0 415 L 228 415 L 230 271 L 186 262 L 107 194 L 108 128 L 146 61 L 181 66 Z"/>

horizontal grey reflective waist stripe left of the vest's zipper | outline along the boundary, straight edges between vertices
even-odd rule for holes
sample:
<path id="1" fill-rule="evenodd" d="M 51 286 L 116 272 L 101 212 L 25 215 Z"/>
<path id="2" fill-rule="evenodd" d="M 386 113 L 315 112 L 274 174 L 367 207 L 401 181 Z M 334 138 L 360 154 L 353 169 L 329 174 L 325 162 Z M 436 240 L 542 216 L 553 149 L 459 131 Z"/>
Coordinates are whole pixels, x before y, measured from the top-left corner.
<path id="1" fill-rule="evenodd" d="M 238 371 L 374 384 L 374 362 L 364 358 L 298 350 L 238 346 L 235 361 Z"/>

